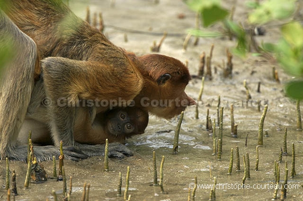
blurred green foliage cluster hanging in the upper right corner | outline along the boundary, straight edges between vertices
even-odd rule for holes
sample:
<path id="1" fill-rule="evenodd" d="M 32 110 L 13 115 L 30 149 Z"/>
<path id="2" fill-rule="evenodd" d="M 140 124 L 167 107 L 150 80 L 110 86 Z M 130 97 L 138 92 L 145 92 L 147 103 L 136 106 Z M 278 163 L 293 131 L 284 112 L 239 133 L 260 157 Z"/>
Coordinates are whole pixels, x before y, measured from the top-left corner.
<path id="1" fill-rule="evenodd" d="M 248 14 L 248 23 L 260 26 L 275 20 L 284 20 L 281 25 L 281 39 L 276 43 L 262 43 L 261 51 L 276 56 L 281 67 L 290 75 L 296 77 L 285 85 L 286 95 L 297 100 L 303 100 L 303 26 L 291 19 L 297 0 L 263 0 L 247 1 L 246 6 L 251 9 Z M 248 34 L 242 26 L 231 20 L 228 11 L 220 4 L 220 0 L 186 0 L 186 4 L 194 11 L 199 12 L 204 27 L 223 22 L 227 33 L 237 38 L 238 44 L 233 53 L 245 57 L 249 50 Z M 300 7 L 300 6 L 299 6 Z M 211 12 L 209 12 L 211 11 Z M 242 20 L 242 19 L 241 19 Z M 190 34 L 200 37 L 216 37 L 226 33 L 190 30 Z"/>

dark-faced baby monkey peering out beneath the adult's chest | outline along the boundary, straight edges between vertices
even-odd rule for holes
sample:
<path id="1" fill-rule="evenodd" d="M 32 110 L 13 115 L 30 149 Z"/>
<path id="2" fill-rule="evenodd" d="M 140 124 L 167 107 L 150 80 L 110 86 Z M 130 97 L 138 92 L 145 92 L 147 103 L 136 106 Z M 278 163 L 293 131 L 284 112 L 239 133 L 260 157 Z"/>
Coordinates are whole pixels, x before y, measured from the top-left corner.
<path id="1" fill-rule="evenodd" d="M 137 107 L 115 108 L 106 113 L 98 113 L 92 125 L 85 125 L 87 122 L 89 121 L 81 122 L 76 119 L 75 141 L 103 144 L 108 139 L 109 142 L 124 143 L 125 139 L 144 133 L 149 122 L 149 114 Z"/>

